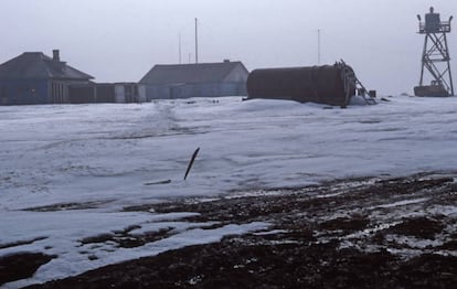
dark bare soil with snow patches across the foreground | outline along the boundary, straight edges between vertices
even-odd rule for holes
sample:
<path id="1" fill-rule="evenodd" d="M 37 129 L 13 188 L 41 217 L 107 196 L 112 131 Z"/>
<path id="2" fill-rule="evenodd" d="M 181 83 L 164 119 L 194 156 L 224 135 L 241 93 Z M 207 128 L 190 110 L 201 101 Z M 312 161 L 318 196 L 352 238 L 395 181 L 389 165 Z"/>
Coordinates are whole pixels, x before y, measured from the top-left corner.
<path id="1" fill-rule="evenodd" d="M 126 207 L 195 212 L 187 221 L 215 226 L 258 221 L 272 226 L 33 288 L 456 288 L 456 207 L 457 183 L 444 174 L 340 180 L 211 202 Z M 169 234 L 136 236 L 124 247 Z M 83 242 L 116 242 L 117 236 L 125 239 L 128 229 Z"/>

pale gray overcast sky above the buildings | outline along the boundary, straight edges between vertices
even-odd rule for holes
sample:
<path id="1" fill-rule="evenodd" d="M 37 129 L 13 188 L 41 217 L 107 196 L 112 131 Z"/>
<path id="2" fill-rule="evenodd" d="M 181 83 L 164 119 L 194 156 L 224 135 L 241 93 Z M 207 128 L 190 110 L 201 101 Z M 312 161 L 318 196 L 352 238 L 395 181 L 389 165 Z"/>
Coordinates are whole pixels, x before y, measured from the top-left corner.
<path id="1" fill-rule="evenodd" d="M 251 69 L 343 58 L 380 94 L 412 93 L 424 36 L 416 14 L 457 17 L 456 0 L 0 0 L 0 63 L 25 51 L 61 50 L 97 82 L 139 81 L 155 64 L 194 57 L 242 61 Z M 448 35 L 457 79 L 457 22 Z M 456 84 L 457 85 L 457 84 Z"/>

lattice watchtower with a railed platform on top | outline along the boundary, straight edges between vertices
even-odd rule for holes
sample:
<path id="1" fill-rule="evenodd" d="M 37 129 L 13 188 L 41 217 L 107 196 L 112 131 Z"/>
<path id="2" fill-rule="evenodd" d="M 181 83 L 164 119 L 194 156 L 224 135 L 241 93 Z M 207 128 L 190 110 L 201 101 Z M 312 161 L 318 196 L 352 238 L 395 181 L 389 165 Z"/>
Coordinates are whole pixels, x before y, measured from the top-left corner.
<path id="1" fill-rule="evenodd" d="M 434 13 L 431 7 L 429 13 L 425 14 L 423 22 L 421 15 L 419 34 L 425 34 L 424 52 L 422 54 L 422 68 L 419 85 L 414 87 L 416 96 L 453 96 L 453 76 L 450 74 L 450 57 L 447 46 L 446 34 L 450 32 L 450 21 L 442 22 L 439 13 Z M 424 85 L 424 71 L 428 71 L 432 82 Z"/>

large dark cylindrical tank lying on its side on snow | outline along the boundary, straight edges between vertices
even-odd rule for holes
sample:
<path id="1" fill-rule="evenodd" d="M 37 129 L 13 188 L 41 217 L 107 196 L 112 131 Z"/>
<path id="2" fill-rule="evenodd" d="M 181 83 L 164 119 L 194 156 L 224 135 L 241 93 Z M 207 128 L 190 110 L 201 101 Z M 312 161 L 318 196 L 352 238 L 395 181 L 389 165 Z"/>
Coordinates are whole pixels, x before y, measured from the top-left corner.
<path id="1" fill-rule="evenodd" d="M 352 68 L 339 64 L 255 69 L 247 77 L 247 94 L 249 98 L 291 99 L 344 107 L 355 93 L 353 87 L 348 88 L 348 74 L 353 75 Z"/>

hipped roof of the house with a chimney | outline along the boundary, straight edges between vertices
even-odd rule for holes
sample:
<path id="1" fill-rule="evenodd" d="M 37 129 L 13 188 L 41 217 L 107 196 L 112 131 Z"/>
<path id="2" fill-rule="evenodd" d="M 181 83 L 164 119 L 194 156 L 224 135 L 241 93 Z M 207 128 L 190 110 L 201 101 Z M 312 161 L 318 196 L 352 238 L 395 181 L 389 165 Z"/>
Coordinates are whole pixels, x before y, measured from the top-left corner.
<path id="1" fill-rule="evenodd" d="M 0 78 L 88 81 L 94 77 L 42 52 L 25 52 L 0 65 Z"/>

